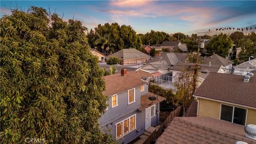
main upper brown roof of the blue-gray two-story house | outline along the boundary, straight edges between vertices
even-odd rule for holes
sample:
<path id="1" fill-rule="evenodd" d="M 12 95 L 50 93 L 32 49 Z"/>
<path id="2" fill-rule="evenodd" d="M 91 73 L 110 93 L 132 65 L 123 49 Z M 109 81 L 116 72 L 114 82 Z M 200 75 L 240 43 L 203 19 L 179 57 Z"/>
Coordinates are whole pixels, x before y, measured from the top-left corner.
<path id="1" fill-rule="evenodd" d="M 121 74 L 105 76 L 103 78 L 106 81 L 106 90 L 103 94 L 110 96 L 146 84 L 141 80 L 142 76 L 151 77 L 152 75 L 139 70 L 127 71 L 126 76 L 121 76 Z"/>

